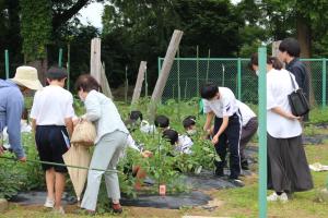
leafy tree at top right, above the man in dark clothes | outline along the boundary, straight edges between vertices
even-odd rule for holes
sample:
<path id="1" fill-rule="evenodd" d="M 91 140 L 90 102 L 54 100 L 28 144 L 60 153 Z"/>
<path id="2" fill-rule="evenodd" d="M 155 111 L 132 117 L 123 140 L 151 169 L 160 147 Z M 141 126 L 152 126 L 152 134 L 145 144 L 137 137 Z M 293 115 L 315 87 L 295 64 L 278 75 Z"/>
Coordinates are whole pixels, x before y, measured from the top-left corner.
<path id="1" fill-rule="evenodd" d="M 328 21 L 328 14 L 326 13 L 328 10 L 327 0 L 263 0 L 260 7 L 267 14 L 263 17 L 268 22 L 280 20 L 279 26 L 286 26 L 290 34 L 296 36 L 301 45 L 301 57 L 303 58 L 312 56 L 313 39 L 327 33 L 327 26 L 325 25 Z M 314 33 L 318 33 L 316 29 L 320 29 L 317 36 L 314 35 Z"/>

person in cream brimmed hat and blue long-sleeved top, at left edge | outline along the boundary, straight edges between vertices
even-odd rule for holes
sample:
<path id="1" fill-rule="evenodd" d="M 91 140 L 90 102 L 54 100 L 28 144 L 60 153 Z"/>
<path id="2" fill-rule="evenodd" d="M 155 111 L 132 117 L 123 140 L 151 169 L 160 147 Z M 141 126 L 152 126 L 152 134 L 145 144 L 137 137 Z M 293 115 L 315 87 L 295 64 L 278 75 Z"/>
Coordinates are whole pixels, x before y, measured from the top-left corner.
<path id="1" fill-rule="evenodd" d="M 15 76 L 0 80 L 0 155 L 3 153 L 2 131 L 7 126 L 9 144 L 21 161 L 26 160 L 21 138 L 21 118 L 24 108 L 23 94 L 27 90 L 42 89 L 37 71 L 32 66 L 19 66 Z"/>

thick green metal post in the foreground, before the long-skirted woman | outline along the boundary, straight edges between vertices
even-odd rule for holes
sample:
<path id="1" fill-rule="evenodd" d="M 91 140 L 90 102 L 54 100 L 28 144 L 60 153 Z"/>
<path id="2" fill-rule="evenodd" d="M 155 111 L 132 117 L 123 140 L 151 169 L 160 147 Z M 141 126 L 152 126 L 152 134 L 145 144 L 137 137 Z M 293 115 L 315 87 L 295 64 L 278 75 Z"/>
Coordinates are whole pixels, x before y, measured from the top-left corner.
<path id="1" fill-rule="evenodd" d="M 267 217 L 267 48 L 258 49 L 259 57 L 259 217 Z"/>

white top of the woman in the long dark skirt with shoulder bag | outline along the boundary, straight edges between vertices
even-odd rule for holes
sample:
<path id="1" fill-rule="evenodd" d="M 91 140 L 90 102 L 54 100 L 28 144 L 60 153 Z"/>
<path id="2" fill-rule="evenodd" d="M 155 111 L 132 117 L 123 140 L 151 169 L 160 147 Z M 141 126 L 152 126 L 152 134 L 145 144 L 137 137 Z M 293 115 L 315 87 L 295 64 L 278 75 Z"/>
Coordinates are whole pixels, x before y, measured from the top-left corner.
<path id="1" fill-rule="evenodd" d="M 291 112 L 288 95 L 293 92 L 292 81 L 289 71 L 272 69 L 267 74 L 267 131 L 276 138 L 295 137 L 302 134 L 302 126 L 297 120 L 289 120 L 271 109 L 280 107 Z M 295 76 L 291 74 L 295 81 Z M 298 87 L 295 82 L 296 87 Z"/>

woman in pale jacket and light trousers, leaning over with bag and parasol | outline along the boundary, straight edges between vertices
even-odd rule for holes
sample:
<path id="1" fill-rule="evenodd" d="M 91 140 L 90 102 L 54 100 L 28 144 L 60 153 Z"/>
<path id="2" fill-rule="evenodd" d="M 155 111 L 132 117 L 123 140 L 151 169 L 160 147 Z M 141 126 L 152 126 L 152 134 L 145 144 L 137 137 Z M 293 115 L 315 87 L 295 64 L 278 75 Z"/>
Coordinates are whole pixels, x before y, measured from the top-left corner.
<path id="1" fill-rule="evenodd" d="M 84 101 L 86 113 L 83 119 L 92 121 L 96 125 L 97 136 L 95 149 L 90 168 L 115 170 L 119 156 L 127 145 L 129 131 L 125 126 L 118 110 L 112 99 L 107 98 L 99 89 L 98 83 L 91 75 L 80 75 L 75 88 L 79 97 Z M 81 207 L 90 213 L 96 209 L 103 171 L 90 170 L 87 186 L 82 199 Z M 112 198 L 114 213 L 121 213 L 119 204 L 120 190 L 116 172 L 106 173 L 105 182 L 108 197 Z"/>

